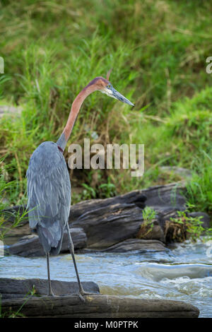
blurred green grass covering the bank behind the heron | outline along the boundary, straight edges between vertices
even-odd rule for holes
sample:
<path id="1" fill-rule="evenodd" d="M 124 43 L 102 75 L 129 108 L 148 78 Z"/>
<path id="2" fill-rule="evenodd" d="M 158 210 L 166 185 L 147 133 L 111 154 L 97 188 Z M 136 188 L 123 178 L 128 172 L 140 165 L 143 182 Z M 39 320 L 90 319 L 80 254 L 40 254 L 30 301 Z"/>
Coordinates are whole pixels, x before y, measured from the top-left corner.
<path id="1" fill-rule="evenodd" d="M 26 201 L 25 172 L 42 141 L 56 141 L 77 93 L 95 76 L 135 103 L 93 93 L 69 143 L 144 143 L 145 173 L 74 170 L 73 203 L 181 180 L 162 166 L 192 170 L 188 202 L 212 213 L 211 1 L 1 1 L 0 105 L 20 116 L 0 119 L 0 158 L 11 165 L 6 195 Z M 69 155 L 65 153 L 68 160 Z M 97 174 L 98 173 L 98 177 Z M 6 191 L 4 191 L 6 192 Z"/>

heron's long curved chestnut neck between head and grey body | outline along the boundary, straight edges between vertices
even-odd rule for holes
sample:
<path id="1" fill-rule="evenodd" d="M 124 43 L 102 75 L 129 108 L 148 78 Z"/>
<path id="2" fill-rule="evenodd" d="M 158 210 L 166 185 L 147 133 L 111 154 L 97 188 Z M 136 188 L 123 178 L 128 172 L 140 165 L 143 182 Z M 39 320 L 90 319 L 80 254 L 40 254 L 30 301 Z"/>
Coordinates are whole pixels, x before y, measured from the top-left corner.
<path id="1" fill-rule="evenodd" d="M 95 85 L 90 85 L 89 83 L 88 85 L 86 85 L 86 88 L 83 88 L 83 90 L 81 90 L 81 92 L 76 96 L 75 100 L 73 100 L 68 121 L 64 128 L 64 131 L 62 132 L 59 140 L 57 141 L 57 145 L 60 146 L 62 150 L 64 150 L 66 143 L 69 140 L 74 122 L 76 121 L 76 117 L 79 110 L 81 109 L 83 101 L 86 99 L 86 97 L 88 97 L 88 95 L 90 95 L 90 93 L 93 93 L 95 90 L 98 90 Z"/>

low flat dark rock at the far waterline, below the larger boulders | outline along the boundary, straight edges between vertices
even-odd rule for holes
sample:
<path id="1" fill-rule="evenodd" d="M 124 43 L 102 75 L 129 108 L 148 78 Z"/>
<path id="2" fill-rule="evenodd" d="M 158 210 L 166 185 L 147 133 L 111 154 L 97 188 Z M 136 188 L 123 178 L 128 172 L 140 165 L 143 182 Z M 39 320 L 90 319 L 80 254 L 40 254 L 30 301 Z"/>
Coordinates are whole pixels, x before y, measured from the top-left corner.
<path id="1" fill-rule="evenodd" d="M 163 242 L 158 240 L 148 239 L 126 239 L 125 241 L 114 244 L 113 246 L 105 249 L 104 251 L 112 252 L 129 252 L 132 250 L 139 251 L 169 251 Z"/>

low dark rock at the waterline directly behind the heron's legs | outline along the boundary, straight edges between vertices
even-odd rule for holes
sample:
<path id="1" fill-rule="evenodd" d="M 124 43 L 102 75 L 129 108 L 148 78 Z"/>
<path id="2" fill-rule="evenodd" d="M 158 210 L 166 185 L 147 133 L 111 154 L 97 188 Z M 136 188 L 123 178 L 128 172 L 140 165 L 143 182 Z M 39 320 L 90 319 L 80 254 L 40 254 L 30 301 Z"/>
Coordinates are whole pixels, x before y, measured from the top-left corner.
<path id="1" fill-rule="evenodd" d="M 82 228 L 71 228 L 71 238 L 75 249 L 86 247 L 87 237 Z M 11 245 L 8 251 L 10 254 L 24 257 L 45 255 L 45 251 L 40 244 L 39 237 L 35 234 L 22 237 L 18 242 Z M 69 252 L 67 232 L 64 232 L 64 239 L 61 246 L 61 253 L 65 252 Z"/>

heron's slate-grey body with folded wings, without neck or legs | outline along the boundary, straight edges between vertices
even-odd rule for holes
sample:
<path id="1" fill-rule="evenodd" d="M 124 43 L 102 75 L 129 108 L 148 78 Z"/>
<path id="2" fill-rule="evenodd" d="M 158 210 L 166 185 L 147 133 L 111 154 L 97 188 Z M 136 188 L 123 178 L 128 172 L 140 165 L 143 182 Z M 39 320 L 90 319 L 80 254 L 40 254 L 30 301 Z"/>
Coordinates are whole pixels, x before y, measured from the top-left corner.
<path id="1" fill-rule="evenodd" d="M 27 178 L 30 228 L 37 229 L 45 251 L 50 251 L 61 242 L 71 206 L 69 172 L 55 143 L 35 150 Z"/>

